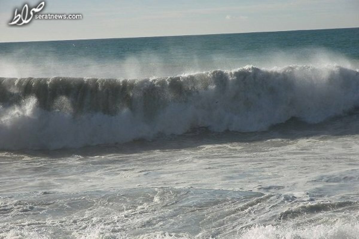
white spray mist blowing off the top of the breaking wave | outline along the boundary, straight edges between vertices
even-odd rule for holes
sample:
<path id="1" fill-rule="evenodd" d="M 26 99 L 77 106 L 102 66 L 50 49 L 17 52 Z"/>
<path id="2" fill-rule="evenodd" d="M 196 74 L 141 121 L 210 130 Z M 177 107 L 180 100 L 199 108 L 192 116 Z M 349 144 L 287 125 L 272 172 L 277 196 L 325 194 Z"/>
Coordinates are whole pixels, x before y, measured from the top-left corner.
<path id="1" fill-rule="evenodd" d="M 71 43 L 69 43 L 71 45 Z M 69 46 L 71 47 L 71 46 Z M 76 47 L 74 47 L 76 48 Z M 75 51 L 76 52 L 76 51 Z M 123 58 L 73 57 L 63 59 L 55 54 L 43 52 L 24 53 L 14 50 L 0 59 L 1 77 L 87 77 L 143 79 L 194 74 L 204 71 L 231 71 L 239 67 L 253 65 L 260 68 L 286 67 L 290 65 L 309 65 L 322 67 L 337 64 L 342 67 L 358 69 L 359 61 L 350 60 L 342 53 L 325 48 L 271 49 L 249 54 L 188 52 L 140 52 Z M 186 55 L 187 54 L 187 55 Z M 232 55 L 233 54 L 233 55 Z M 204 58 L 203 58 L 204 57 Z"/>

